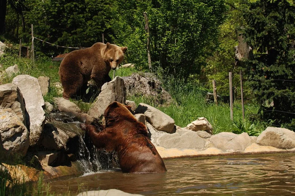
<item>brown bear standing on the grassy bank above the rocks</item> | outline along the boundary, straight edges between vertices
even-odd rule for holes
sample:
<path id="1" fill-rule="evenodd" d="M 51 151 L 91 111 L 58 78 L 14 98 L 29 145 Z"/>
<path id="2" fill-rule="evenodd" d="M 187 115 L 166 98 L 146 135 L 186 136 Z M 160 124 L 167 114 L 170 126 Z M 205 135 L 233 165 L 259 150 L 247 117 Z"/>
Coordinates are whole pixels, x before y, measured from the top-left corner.
<path id="1" fill-rule="evenodd" d="M 93 79 L 100 89 L 111 81 L 109 72 L 123 61 L 127 47 L 119 47 L 109 42 L 95 43 L 90 48 L 70 52 L 59 67 L 59 78 L 63 86 L 63 98 L 83 95 L 87 83 Z"/>

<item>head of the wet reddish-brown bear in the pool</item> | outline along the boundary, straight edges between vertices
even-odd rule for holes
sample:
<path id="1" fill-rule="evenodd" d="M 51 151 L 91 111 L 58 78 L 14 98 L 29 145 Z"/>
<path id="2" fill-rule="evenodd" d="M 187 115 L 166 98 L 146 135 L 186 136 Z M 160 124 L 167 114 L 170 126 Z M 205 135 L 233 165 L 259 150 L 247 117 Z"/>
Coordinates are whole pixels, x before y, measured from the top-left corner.
<path id="1" fill-rule="evenodd" d="M 130 112 L 131 106 L 121 104 L 119 102 L 113 102 L 106 107 L 104 111 L 105 124 L 108 126 L 112 122 L 119 121 L 121 119 L 135 119 Z"/>

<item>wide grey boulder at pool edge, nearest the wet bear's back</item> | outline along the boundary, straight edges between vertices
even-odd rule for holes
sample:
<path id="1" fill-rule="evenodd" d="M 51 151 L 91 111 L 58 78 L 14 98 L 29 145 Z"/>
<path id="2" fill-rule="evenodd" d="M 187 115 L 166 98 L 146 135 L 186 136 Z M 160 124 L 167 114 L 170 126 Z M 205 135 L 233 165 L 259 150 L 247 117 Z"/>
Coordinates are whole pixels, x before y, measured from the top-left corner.
<path id="1" fill-rule="evenodd" d="M 190 130 L 182 134 L 164 134 L 156 140 L 156 144 L 165 148 L 204 148 L 204 140 Z"/>

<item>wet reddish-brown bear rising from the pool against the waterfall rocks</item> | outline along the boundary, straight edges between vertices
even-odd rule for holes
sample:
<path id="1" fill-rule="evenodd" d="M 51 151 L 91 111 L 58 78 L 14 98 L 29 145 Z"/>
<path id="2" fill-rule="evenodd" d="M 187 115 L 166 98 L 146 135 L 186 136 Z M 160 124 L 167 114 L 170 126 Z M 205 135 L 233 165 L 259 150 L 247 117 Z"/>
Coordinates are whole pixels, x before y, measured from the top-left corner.
<path id="1" fill-rule="evenodd" d="M 166 167 L 155 146 L 148 138 L 148 131 L 129 111 L 130 106 L 118 102 L 109 104 L 104 112 L 105 127 L 81 124 L 97 148 L 115 150 L 122 172 L 166 172 Z"/>

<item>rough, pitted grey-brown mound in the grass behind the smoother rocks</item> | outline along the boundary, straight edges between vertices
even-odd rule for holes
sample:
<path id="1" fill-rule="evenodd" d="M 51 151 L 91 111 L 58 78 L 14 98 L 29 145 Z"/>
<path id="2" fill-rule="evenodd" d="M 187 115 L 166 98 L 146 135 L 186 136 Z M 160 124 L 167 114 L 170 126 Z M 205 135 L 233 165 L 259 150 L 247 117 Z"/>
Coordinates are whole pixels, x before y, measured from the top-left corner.
<path id="1" fill-rule="evenodd" d="M 162 83 L 151 73 L 133 73 L 131 76 L 122 77 L 125 82 L 126 95 L 153 97 L 159 104 L 172 102 L 171 95 L 162 88 Z"/>

